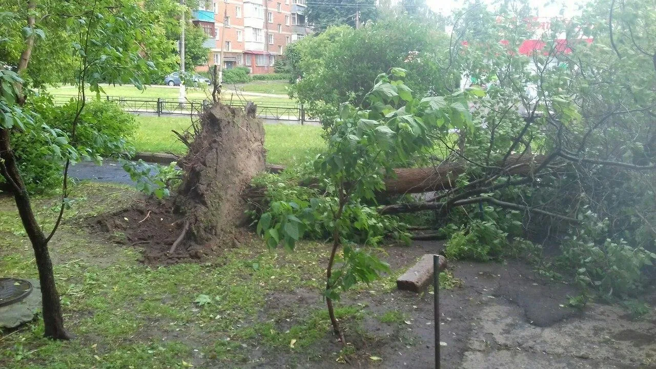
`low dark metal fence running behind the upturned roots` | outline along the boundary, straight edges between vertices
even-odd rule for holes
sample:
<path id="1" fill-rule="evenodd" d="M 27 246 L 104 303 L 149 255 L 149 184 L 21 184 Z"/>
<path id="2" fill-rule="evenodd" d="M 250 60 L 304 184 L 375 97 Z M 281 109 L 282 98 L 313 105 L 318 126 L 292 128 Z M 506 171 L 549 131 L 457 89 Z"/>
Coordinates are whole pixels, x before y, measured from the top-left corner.
<path id="1" fill-rule="evenodd" d="M 52 95 L 56 104 L 65 104 L 77 95 Z M 87 97 L 87 101 L 94 100 L 94 96 Z M 106 96 L 106 100 L 113 101 L 126 112 L 157 114 L 158 116 L 194 116 L 203 110 L 203 106 L 209 106 L 208 100 L 188 99 L 184 101 L 165 98 L 129 98 Z M 243 100 L 222 101 L 230 106 L 243 108 L 246 104 Z M 305 110 L 302 104 L 285 104 L 277 102 L 260 101 L 257 105 L 257 115 L 263 119 L 276 119 L 286 121 L 298 121 L 305 123 Z"/>

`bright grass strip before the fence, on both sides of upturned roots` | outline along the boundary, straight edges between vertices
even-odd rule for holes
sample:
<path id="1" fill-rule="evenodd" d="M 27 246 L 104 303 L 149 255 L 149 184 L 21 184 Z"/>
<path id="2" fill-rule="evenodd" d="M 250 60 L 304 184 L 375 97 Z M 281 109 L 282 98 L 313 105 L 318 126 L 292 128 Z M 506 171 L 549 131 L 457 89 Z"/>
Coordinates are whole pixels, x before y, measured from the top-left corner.
<path id="1" fill-rule="evenodd" d="M 138 116 L 139 129 L 134 145 L 140 152 L 173 152 L 184 154 L 186 147 L 171 133 L 182 132 L 190 126 L 189 118 Z M 312 125 L 265 124 L 264 147 L 267 162 L 289 165 L 296 160 L 314 156 L 324 147 L 321 127 Z"/>

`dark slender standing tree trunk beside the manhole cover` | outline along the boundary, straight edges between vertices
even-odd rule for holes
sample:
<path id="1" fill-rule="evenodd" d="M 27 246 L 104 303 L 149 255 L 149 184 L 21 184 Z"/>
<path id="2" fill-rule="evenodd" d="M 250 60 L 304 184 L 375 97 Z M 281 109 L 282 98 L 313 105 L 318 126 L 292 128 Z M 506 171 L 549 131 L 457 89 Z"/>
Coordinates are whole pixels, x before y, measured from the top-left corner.
<path id="1" fill-rule="evenodd" d="M 64 329 L 64 318 L 62 318 L 62 307 L 59 301 L 59 293 L 54 283 L 52 261 L 48 252 L 48 242 L 45 234 L 41 231 L 39 223 L 34 216 L 30 204 L 30 197 L 23 183 L 18 166 L 14 159 L 9 141 L 9 130 L 0 129 L 0 169 L 7 183 L 12 186 L 18 214 L 23 227 L 30 238 L 34 257 L 39 271 L 39 282 L 41 283 L 41 298 L 43 301 L 43 324 L 45 326 L 45 337 L 54 339 L 71 339 L 72 337 Z"/>

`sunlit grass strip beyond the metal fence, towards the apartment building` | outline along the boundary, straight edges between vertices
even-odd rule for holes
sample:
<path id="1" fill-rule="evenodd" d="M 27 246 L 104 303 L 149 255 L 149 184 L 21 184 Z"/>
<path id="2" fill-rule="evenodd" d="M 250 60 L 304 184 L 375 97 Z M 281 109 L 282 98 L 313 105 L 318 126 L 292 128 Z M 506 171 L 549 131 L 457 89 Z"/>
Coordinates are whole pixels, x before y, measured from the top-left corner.
<path id="1" fill-rule="evenodd" d="M 269 83 L 269 81 L 261 81 L 257 83 L 257 87 L 255 89 L 266 89 L 266 85 Z M 280 83 L 278 81 L 274 81 L 272 83 L 272 86 L 274 86 L 274 89 L 279 89 Z M 112 97 L 129 97 L 129 98 L 166 98 L 166 99 L 177 99 L 178 95 L 180 94 L 180 90 L 178 88 L 171 88 L 171 87 L 165 87 L 165 86 L 146 86 L 146 89 L 143 91 L 139 91 L 134 87 L 133 85 L 122 85 L 122 86 L 112 86 L 112 85 L 101 85 L 102 89 L 104 89 L 105 93 L 101 93 L 103 97 L 106 95 L 112 96 Z M 249 90 L 249 85 L 243 85 L 244 91 L 250 91 Z M 284 90 L 284 89 L 283 89 Z M 60 87 L 51 87 L 48 89 L 50 93 L 53 95 L 77 95 L 77 87 L 70 86 L 70 85 L 62 85 Z M 257 91 L 257 92 L 262 92 L 262 91 Z M 90 93 L 92 95 L 92 93 Z M 281 92 L 281 95 L 286 95 L 286 93 L 283 91 Z M 187 89 L 187 98 L 191 100 L 202 100 L 206 98 L 211 98 L 211 91 L 203 91 L 203 89 Z M 234 100 L 238 101 L 240 99 L 245 99 L 249 101 L 254 101 L 259 104 L 274 104 L 274 105 L 280 105 L 280 104 L 295 104 L 293 100 L 290 100 L 288 97 L 283 96 L 283 97 L 258 97 L 258 96 L 249 96 L 249 95 L 243 95 L 240 96 L 235 93 L 230 93 L 229 91 L 222 94 L 222 98 L 226 101 Z"/>

